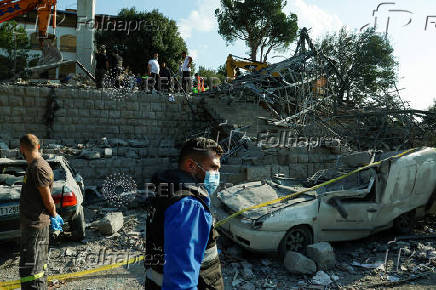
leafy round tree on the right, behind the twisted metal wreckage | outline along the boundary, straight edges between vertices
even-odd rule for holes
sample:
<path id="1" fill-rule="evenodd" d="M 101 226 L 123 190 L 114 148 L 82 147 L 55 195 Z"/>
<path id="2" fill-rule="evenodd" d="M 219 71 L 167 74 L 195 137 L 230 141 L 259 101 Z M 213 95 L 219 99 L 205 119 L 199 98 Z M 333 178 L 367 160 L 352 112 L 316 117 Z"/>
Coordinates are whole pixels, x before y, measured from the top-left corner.
<path id="1" fill-rule="evenodd" d="M 373 28 L 357 33 L 343 27 L 338 33 L 326 35 L 316 47 L 333 61 L 342 77 L 329 79 L 340 101 L 361 104 L 395 87 L 398 62 L 394 49 Z"/>

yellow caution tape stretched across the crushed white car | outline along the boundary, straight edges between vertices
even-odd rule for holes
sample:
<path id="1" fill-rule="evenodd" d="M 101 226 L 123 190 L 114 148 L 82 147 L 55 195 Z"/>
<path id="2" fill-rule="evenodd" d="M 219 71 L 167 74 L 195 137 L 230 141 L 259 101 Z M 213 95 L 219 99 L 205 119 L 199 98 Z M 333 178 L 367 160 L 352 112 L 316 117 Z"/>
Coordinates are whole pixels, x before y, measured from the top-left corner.
<path id="1" fill-rule="evenodd" d="M 402 153 L 400 153 L 400 154 L 398 154 L 398 155 L 395 155 L 395 156 L 392 156 L 392 157 L 386 158 L 385 160 L 381 160 L 381 161 L 377 161 L 377 162 L 370 163 L 370 164 L 365 165 L 365 166 L 363 166 L 363 167 L 357 168 L 357 169 L 355 169 L 355 170 L 353 170 L 353 171 L 351 171 L 351 172 L 349 172 L 349 173 L 346 173 L 346 174 L 344 174 L 344 175 L 342 175 L 342 176 L 339 176 L 339 177 L 337 177 L 337 178 L 335 178 L 335 179 L 328 180 L 328 181 L 326 181 L 326 182 L 324 182 L 324 183 L 321 183 L 321 184 L 318 184 L 318 185 L 312 186 L 312 187 L 310 187 L 310 188 L 306 188 L 306 189 L 304 189 L 304 190 L 298 191 L 298 192 L 293 193 L 293 194 L 289 194 L 289 195 L 286 195 L 286 196 L 282 196 L 282 197 L 280 197 L 280 198 L 277 198 L 277 199 L 274 199 L 274 200 L 271 200 L 271 201 L 267 201 L 267 202 L 264 202 L 264 203 L 261 203 L 261 204 L 258 204 L 258 205 L 254 205 L 254 206 L 250 206 L 250 207 L 244 208 L 244 209 L 242 209 L 242 210 L 240 210 L 240 211 L 238 211 L 238 212 L 235 212 L 234 214 L 231 214 L 230 216 L 228 216 L 228 217 L 226 217 L 226 218 L 224 218 L 224 219 L 218 221 L 218 222 L 215 224 L 215 226 L 216 226 L 216 227 L 222 226 L 223 224 L 225 224 L 225 223 L 227 223 L 228 221 L 230 221 L 231 219 L 234 219 L 235 217 L 237 217 L 237 216 L 243 214 L 243 213 L 246 212 L 246 211 L 249 211 L 249 210 L 252 210 L 252 209 L 258 209 L 258 208 L 266 207 L 266 206 L 268 206 L 268 205 L 275 204 L 275 203 L 278 203 L 278 202 L 284 201 L 284 200 L 286 200 L 286 199 L 295 198 L 295 197 L 297 197 L 297 196 L 299 196 L 299 195 L 301 195 L 301 194 L 303 194 L 303 193 L 305 193 L 305 192 L 308 192 L 308 191 L 311 191 L 311 190 L 316 190 L 316 189 L 318 189 L 318 188 L 320 188 L 320 187 L 323 187 L 323 186 L 326 186 L 326 185 L 332 184 L 332 183 L 334 183 L 334 182 L 336 182 L 336 181 L 338 181 L 338 180 L 344 179 L 344 178 L 346 178 L 346 177 L 348 177 L 348 176 L 350 176 L 350 175 L 353 175 L 353 174 L 355 174 L 355 173 L 357 173 L 357 172 L 360 172 L 360 171 L 365 170 L 365 169 L 368 169 L 368 168 L 370 168 L 370 167 L 373 167 L 373 166 L 379 165 L 379 164 L 381 164 L 383 161 L 386 161 L 386 160 L 388 160 L 388 159 L 399 158 L 399 157 L 401 157 L 401 156 L 403 156 L 403 155 L 405 155 L 405 154 L 407 154 L 407 153 L 410 153 L 410 152 L 412 152 L 412 151 L 415 151 L 415 150 L 416 150 L 416 148 L 406 150 L 406 151 L 404 151 L 404 152 L 402 152 Z"/>

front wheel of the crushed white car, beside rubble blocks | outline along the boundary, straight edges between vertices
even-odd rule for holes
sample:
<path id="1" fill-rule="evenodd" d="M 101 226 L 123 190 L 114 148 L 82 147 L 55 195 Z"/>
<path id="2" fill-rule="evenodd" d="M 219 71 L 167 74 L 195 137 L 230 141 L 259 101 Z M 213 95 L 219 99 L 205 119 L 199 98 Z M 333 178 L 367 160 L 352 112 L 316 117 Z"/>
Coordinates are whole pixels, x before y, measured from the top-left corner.
<path id="1" fill-rule="evenodd" d="M 280 241 L 279 252 L 282 258 L 288 251 L 304 253 L 306 247 L 312 243 L 311 229 L 308 226 L 296 226 L 291 228 Z"/>

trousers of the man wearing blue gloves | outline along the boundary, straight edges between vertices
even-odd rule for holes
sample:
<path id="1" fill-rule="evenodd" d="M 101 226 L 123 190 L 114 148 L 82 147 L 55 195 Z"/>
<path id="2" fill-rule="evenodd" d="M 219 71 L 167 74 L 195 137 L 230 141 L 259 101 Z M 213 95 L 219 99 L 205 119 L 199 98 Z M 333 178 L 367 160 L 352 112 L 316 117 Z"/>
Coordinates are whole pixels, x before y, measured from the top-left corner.
<path id="1" fill-rule="evenodd" d="M 19 272 L 23 290 L 47 289 L 48 227 L 21 226 Z"/>

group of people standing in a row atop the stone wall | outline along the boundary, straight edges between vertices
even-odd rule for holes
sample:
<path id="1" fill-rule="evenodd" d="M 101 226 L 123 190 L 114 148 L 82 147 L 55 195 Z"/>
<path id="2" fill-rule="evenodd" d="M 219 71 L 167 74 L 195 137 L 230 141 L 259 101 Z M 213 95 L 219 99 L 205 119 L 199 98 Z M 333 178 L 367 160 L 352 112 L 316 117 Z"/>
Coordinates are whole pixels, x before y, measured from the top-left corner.
<path id="1" fill-rule="evenodd" d="M 203 78 L 195 74 L 192 80 L 192 61 L 192 57 L 183 51 L 179 70 L 174 73 L 166 61 L 159 61 L 159 54 L 155 52 L 146 63 L 145 75 L 135 75 L 129 67 L 123 67 L 123 58 L 117 46 L 106 50 L 106 46 L 102 45 L 96 53 L 97 88 L 138 88 L 145 91 L 190 93 L 194 84 L 196 92 L 204 91 L 207 85 L 204 84 Z"/>

